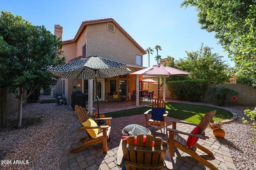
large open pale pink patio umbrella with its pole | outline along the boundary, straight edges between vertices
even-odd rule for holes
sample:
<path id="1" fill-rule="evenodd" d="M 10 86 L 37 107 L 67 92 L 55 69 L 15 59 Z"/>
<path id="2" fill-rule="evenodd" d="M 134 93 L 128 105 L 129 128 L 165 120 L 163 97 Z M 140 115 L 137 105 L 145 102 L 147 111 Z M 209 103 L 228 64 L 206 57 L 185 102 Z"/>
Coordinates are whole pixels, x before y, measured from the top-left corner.
<path id="1" fill-rule="evenodd" d="M 160 86 L 159 86 L 160 85 L 160 83 L 159 83 L 160 76 L 166 77 L 166 76 L 172 76 L 174 74 L 193 74 L 193 73 L 179 70 L 177 68 L 169 67 L 169 66 L 162 65 L 162 64 L 156 64 L 154 66 L 133 72 L 131 74 L 158 76 L 158 98 L 159 98 L 160 97 Z M 166 84 L 164 81 L 164 87 L 165 87 L 165 85 Z"/>

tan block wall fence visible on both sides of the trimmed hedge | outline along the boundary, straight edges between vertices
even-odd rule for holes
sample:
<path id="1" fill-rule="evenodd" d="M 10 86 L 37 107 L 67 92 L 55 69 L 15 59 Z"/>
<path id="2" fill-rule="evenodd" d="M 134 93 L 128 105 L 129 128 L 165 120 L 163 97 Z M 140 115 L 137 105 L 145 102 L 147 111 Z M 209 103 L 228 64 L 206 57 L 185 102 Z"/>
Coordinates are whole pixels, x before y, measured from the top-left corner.
<path id="1" fill-rule="evenodd" d="M 232 100 L 232 96 L 228 98 L 227 104 L 234 104 L 240 106 L 256 106 L 256 89 L 242 84 L 208 84 L 204 89 L 202 97 L 199 99 L 199 102 L 203 103 L 214 103 L 214 101 L 207 95 L 207 91 L 210 88 L 227 86 L 229 89 L 232 89 L 239 94 L 237 95 L 237 101 Z M 148 84 L 144 84 L 144 89 L 148 90 Z M 154 91 L 154 97 L 158 97 L 158 84 L 149 84 L 149 91 Z M 163 86 L 160 86 L 160 98 L 163 98 Z M 166 86 L 166 98 L 167 99 L 177 99 L 175 95 L 172 95 Z"/>

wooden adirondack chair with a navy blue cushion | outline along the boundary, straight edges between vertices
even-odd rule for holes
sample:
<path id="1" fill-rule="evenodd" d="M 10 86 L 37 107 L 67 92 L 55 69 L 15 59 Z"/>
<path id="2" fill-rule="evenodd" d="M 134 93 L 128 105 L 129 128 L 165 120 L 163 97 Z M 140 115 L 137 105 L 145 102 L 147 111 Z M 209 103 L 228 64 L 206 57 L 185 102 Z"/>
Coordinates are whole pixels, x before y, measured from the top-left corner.
<path id="1" fill-rule="evenodd" d="M 148 112 L 152 111 L 151 119 L 148 119 Z M 166 129 L 166 117 L 168 115 L 168 111 L 166 111 L 166 102 L 161 98 L 156 99 L 152 102 L 152 109 L 149 109 L 144 113 L 146 119 L 146 127 L 148 127 L 148 123 L 154 125 L 163 125 L 164 126 L 164 134 Z"/>

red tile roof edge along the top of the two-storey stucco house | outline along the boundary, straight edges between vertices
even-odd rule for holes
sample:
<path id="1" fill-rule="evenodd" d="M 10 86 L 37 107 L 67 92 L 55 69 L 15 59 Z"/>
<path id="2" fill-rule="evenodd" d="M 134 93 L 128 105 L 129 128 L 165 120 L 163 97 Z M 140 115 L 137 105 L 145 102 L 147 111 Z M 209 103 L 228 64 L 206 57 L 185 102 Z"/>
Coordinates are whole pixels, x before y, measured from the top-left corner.
<path id="1" fill-rule="evenodd" d="M 116 24 L 116 26 L 121 29 L 125 35 L 127 35 L 127 37 L 133 42 L 135 43 L 135 45 L 137 45 L 139 47 L 139 49 L 141 51 L 143 51 L 144 54 L 146 54 L 146 51 L 113 19 L 113 18 L 105 18 L 105 19 L 100 19 L 100 20 L 89 20 L 89 21 L 83 21 L 80 28 L 78 29 L 76 36 L 74 37 L 74 39 L 70 39 L 70 40 L 66 40 L 63 41 L 63 43 L 71 43 L 71 42 L 75 42 L 81 35 L 81 33 L 84 31 L 86 25 L 89 24 L 94 24 L 94 23 L 102 23 L 102 22 L 113 22 L 114 24 Z"/>

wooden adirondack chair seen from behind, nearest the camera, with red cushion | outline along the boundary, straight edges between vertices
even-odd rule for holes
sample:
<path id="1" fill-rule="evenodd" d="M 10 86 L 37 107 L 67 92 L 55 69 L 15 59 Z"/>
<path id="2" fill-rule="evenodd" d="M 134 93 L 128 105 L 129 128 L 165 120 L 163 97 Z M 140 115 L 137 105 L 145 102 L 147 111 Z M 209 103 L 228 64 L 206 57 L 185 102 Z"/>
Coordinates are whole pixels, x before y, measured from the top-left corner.
<path id="1" fill-rule="evenodd" d="M 139 134 L 121 140 L 116 162 L 118 166 L 126 166 L 126 170 L 172 169 L 167 142 L 162 141 L 160 137 L 156 137 L 153 142 L 152 135 Z"/>

